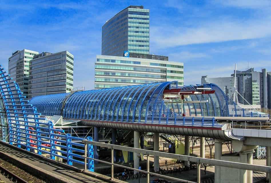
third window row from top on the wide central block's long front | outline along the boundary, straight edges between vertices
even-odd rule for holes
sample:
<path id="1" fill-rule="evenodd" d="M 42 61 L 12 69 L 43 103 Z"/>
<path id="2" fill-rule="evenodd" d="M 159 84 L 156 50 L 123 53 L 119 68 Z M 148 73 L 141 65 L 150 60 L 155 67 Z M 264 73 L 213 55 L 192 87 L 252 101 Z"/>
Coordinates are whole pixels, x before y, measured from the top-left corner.
<path id="1" fill-rule="evenodd" d="M 95 75 L 123 76 L 123 77 L 148 77 L 148 78 L 166 79 L 166 75 L 142 74 L 142 73 L 126 73 L 126 72 L 95 71 Z"/>

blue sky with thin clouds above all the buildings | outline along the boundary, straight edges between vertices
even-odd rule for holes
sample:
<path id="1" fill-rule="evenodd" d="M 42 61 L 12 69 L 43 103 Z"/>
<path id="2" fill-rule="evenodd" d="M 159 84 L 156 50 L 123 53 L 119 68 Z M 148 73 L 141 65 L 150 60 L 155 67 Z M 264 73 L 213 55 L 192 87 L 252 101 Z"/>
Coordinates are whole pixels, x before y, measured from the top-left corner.
<path id="1" fill-rule="evenodd" d="M 3 1 L 0 62 L 21 49 L 75 57 L 74 87 L 94 88 L 101 27 L 129 5 L 150 9 L 150 53 L 184 62 L 185 84 L 202 75 L 230 76 L 254 67 L 271 71 L 271 1 Z"/>

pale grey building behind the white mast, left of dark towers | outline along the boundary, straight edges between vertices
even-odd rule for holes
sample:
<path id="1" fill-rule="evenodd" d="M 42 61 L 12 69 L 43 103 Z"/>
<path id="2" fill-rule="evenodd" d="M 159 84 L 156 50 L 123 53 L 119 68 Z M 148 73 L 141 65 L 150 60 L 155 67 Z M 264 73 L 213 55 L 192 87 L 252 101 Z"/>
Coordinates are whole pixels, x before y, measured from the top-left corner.
<path id="1" fill-rule="evenodd" d="M 208 77 L 207 75 L 201 77 L 201 84 L 215 83 L 223 92 L 233 100 L 234 98 L 234 77 Z M 238 80 L 236 79 L 236 86 Z"/>

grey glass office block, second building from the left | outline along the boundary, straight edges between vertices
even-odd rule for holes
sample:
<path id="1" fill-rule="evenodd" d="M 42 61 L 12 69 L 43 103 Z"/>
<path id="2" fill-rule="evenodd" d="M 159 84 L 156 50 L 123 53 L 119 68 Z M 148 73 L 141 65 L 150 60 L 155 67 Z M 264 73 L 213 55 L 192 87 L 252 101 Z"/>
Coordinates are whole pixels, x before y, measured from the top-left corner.
<path id="1" fill-rule="evenodd" d="M 73 89 L 73 55 L 43 52 L 30 61 L 29 98 L 68 93 Z"/>

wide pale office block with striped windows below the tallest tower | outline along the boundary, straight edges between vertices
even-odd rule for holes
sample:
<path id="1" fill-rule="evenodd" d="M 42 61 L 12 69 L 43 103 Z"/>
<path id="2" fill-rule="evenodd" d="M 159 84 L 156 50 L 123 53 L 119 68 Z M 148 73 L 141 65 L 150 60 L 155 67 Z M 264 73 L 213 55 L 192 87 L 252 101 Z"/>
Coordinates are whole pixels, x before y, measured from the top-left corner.
<path id="1" fill-rule="evenodd" d="M 95 89 L 178 81 L 184 84 L 184 64 L 164 60 L 97 55 Z"/>

